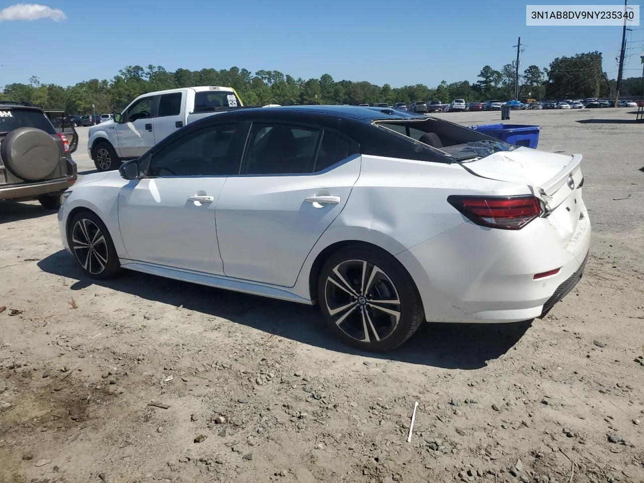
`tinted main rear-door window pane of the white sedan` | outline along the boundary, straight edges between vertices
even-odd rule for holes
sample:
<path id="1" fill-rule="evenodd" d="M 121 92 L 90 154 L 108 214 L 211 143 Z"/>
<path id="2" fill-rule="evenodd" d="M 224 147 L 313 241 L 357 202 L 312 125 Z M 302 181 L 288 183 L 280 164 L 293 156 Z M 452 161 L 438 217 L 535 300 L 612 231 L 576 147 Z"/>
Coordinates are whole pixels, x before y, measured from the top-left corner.
<path id="1" fill-rule="evenodd" d="M 311 173 L 320 135 L 319 129 L 253 123 L 242 174 Z"/>

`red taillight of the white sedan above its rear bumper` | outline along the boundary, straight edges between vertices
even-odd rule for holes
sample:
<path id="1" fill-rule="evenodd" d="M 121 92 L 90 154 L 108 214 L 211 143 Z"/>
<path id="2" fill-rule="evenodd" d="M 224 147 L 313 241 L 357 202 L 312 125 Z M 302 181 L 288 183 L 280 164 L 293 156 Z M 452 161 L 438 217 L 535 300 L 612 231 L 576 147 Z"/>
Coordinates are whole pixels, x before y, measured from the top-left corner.
<path id="1" fill-rule="evenodd" d="M 502 230 L 520 230 L 542 213 L 535 196 L 451 195 L 447 200 L 477 225 Z"/>

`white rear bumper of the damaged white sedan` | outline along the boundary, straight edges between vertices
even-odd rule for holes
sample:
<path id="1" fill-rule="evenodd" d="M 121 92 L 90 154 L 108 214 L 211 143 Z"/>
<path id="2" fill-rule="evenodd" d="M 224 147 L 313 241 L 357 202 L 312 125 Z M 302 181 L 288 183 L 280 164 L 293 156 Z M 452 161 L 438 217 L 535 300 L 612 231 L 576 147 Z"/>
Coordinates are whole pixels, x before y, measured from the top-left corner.
<path id="1" fill-rule="evenodd" d="M 416 282 L 429 321 L 507 323 L 542 317 L 582 277 L 591 240 L 585 207 L 582 211 L 564 246 L 547 219 L 520 231 L 466 222 L 397 258 Z M 533 278 L 556 268 L 554 275 Z"/>

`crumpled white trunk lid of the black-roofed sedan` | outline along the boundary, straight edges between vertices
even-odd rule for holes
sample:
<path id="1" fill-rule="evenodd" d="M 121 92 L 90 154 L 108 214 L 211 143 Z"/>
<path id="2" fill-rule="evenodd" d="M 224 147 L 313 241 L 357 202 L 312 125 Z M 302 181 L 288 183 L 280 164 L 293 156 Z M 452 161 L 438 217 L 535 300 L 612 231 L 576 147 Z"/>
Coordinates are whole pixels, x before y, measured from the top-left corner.
<path id="1" fill-rule="evenodd" d="M 460 165 L 483 178 L 524 184 L 545 205 L 547 218 L 562 242 L 576 231 L 582 210 L 582 155 L 562 155 L 519 147 Z"/>

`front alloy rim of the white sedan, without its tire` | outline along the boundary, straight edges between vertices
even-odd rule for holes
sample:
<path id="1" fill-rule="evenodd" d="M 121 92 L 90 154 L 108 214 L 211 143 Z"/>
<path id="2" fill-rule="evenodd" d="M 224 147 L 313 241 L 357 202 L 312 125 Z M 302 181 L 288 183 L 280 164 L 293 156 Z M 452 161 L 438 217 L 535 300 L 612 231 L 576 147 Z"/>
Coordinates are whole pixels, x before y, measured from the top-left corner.
<path id="1" fill-rule="evenodd" d="M 93 275 L 108 266 L 108 242 L 96 223 L 88 218 L 81 218 L 71 229 L 71 249 L 76 260 Z"/>

